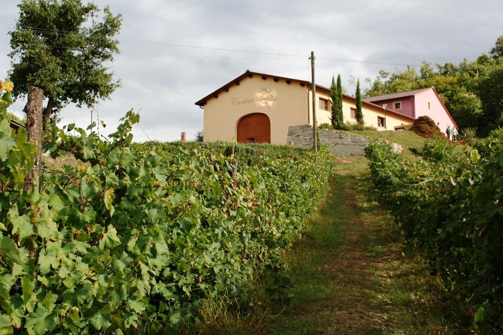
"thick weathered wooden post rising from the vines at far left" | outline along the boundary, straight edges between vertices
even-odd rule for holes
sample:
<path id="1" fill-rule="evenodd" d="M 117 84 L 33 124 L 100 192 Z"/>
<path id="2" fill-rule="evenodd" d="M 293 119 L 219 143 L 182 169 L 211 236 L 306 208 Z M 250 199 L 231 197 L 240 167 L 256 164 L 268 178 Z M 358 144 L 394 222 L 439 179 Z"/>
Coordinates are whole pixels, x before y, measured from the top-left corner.
<path id="1" fill-rule="evenodd" d="M 26 130 L 28 131 L 28 141 L 33 142 L 38 153 L 34 153 L 35 164 L 33 169 L 28 171 L 25 177 L 26 191 L 31 190 L 40 179 L 40 157 L 42 154 L 42 103 L 44 91 L 41 88 L 28 86 L 28 103 L 26 104 Z M 37 173 L 35 174 L 35 170 Z"/>

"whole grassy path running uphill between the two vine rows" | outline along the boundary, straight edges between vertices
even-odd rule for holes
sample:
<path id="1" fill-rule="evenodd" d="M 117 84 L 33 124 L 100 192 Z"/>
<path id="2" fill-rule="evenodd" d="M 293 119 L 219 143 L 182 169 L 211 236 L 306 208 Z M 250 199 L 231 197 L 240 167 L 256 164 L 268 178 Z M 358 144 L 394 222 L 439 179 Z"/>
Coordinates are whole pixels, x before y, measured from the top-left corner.
<path id="1" fill-rule="evenodd" d="M 330 194 L 286 255 L 291 303 L 276 305 L 258 292 L 253 307 L 226 309 L 200 333 L 469 333 L 471 311 L 408 255 L 392 217 L 366 197 L 364 159 L 352 161 L 336 168 Z"/>

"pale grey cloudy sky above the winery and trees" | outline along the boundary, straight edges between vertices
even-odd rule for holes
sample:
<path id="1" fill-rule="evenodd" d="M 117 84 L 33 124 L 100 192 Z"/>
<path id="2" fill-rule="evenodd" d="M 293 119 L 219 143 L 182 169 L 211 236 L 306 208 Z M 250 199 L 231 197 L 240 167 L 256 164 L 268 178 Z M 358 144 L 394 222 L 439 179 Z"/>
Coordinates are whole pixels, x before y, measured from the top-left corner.
<path id="1" fill-rule="evenodd" d="M 329 86 L 332 75 L 340 73 L 354 94 L 350 76 L 360 78 L 365 88 L 365 78 L 375 78 L 380 70 L 404 69 L 359 61 L 459 63 L 488 52 L 503 35 L 501 0 L 94 3 L 123 17 L 117 37 L 121 52 L 109 64 L 122 86 L 97 106 L 107 125 L 100 132 L 113 133 L 134 108 L 140 112 L 139 126 L 133 128 L 137 142 L 175 141 L 183 131 L 194 139 L 204 114 L 194 103 L 246 69 L 310 81 L 308 58 L 314 51 L 316 83 Z M 0 11 L 0 78 L 12 62 L 8 32 L 19 16 L 17 4 L 4 2 Z M 24 105 L 18 100 L 11 111 L 22 117 Z M 87 128 L 91 122 L 85 106 L 68 105 L 60 116 L 60 126 Z"/>

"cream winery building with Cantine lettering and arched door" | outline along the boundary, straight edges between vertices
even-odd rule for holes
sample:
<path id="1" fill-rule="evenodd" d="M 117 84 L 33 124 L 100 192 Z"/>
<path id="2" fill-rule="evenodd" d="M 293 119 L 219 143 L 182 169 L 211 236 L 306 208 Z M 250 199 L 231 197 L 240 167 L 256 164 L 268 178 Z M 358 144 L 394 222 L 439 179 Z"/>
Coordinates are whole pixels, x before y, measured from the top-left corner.
<path id="1" fill-rule="evenodd" d="M 286 144 L 288 127 L 312 125 L 309 81 L 246 71 L 196 102 L 204 108 L 204 141 Z M 330 123 L 329 89 L 316 85 L 317 124 Z M 411 124 L 415 119 L 363 102 L 365 125 L 378 130 Z M 343 96 L 345 122 L 356 123 L 356 99 Z"/>

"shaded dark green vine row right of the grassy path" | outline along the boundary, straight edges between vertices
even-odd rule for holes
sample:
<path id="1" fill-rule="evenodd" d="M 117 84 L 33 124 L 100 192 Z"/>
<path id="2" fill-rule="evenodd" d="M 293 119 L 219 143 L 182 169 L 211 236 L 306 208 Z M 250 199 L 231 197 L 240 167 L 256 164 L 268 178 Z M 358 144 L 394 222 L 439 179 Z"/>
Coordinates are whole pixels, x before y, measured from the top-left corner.
<path id="1" fill-rule="evenodd" d="M 458 147 L 459 148 L 459 147 Z M 474 325 L 503 329 L 503 130 L 464 152 L 426 142 L 414 163 L 366 148 L 376 199 L 446 287 L 477 307 Z"/>

